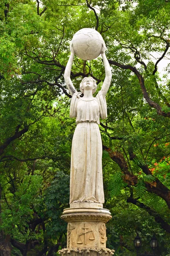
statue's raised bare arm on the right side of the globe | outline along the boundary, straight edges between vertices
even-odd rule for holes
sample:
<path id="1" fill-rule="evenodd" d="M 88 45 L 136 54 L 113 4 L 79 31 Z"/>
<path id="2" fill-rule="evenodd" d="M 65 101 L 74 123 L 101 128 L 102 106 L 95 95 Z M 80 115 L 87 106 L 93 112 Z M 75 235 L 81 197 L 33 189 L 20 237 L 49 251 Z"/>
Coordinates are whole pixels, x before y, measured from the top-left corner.
<path id="1" fill-rule="evenodd" d="M 106 58 L 106 55 L 105 55 L 105 50 L 106 50 L 105 42 L 103 42 L 102 45 L 103 47 L 102 47 L 101 54 L 102 54 L 103 64 L 105 67 L 105 80 L 102 85 L 101 93 L 104 98 L 111 84 L 112 73 L 111 73 L 111 67 L 109 65 L 108 59 Z"/>

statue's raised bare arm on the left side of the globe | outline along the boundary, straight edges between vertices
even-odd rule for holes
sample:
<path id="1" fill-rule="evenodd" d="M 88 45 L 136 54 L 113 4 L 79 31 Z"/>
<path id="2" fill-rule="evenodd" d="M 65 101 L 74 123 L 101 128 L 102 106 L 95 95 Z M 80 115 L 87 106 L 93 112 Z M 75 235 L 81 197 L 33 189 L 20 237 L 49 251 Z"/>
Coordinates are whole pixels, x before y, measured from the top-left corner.
<path id="1" fill-rule="evenodd" d="M 72 42 L 70 44 L 70 51 L 71 51 L 71 55 L 70 55 L 70 58 L 67 62 L 67 65 L 65 67 L 64 79 L 65 79 L 65 83 L 67 85 L 67 88 L 68 88 L 71 96 L 73 96 L 73 94 L 76 92 L 76 89 L 74 88 L 74 85 L 73 85 L 73 83 L 71 81 L 71 78 L 70 78 L 71 67 L 72 67 L 73 59 L 74 59 L 74 49 L 72 47 Z"/>

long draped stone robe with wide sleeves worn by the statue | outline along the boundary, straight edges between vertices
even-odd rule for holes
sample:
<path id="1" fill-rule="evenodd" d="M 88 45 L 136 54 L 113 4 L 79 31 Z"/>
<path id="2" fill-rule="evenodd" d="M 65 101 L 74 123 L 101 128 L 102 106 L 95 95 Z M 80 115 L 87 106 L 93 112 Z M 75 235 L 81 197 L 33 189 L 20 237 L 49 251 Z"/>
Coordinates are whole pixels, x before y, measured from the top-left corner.
<path id="1" fill-rule="evenodd" d="M 70 204 L 74 201 L 104 203 L 99 119 L 107 117 L 107 106 L 101 91 L 91 100 L 74 93 L 70 117 L 76 117 L 77 124 L 71 149 Z"/>

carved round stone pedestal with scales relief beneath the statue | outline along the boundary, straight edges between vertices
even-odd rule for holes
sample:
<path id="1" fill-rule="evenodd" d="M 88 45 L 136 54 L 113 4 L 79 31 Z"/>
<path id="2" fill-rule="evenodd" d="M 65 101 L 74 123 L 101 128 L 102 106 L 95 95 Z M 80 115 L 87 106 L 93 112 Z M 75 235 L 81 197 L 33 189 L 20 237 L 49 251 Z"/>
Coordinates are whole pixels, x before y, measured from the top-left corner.
<path id="1" fill-rule="evenodd" d="M 102 204 L 73 203 L 65 209 L 61 218 L 68 222 L 67 248 L 60 250 L 62 256 L 111 256 L 114 250 L 106 248 L 105 224 L 111 219 Z"/>

